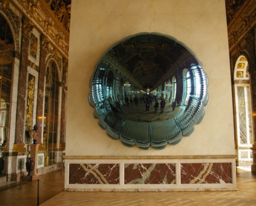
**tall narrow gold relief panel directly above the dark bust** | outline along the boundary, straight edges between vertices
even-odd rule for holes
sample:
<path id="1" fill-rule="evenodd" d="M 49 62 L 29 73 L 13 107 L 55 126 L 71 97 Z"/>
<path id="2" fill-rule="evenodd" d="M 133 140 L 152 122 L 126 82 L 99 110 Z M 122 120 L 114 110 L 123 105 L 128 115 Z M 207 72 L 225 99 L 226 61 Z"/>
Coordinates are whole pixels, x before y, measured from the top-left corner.
<path id="1" fill-rule="evenodd" d="M 32 130 L 34 109 L 35 77 L 29 74 L 26 106 L 26 131 Z"/>

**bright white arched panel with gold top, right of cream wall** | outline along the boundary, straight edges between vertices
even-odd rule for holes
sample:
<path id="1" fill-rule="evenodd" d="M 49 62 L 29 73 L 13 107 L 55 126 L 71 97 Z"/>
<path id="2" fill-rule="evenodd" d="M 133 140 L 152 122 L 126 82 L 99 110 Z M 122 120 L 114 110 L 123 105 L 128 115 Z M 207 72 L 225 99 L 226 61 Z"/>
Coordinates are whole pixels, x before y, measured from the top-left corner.
<path id="1" fill-rule="evenodd" d="M 253 133 L 249 64 L 245 56 L 239 56 L 234 70 L 234 93 L 236 110 L 236 142 L 238 160 L 251 161 Z"/>

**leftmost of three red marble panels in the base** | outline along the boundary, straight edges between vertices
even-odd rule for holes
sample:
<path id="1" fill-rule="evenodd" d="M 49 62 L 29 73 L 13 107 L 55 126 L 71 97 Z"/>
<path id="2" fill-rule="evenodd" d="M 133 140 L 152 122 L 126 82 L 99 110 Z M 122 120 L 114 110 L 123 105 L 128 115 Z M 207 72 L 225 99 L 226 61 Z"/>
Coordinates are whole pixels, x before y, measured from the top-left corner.
<path id="1" fill-rule="evenodd" d="M 69 184 L 119 184 L 119 164 L 69 164 Z"/>

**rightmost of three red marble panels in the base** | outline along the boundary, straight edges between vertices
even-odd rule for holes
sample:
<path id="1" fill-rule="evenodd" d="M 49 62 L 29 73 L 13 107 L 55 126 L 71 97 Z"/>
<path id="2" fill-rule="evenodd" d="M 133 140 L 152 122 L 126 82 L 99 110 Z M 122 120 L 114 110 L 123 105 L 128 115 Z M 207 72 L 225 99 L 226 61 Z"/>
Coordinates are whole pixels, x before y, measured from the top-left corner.
<path id="1" fill-rule="evenodd" d="M 231 163 L 180 164 L 182 184 L 232 183 Z"/>

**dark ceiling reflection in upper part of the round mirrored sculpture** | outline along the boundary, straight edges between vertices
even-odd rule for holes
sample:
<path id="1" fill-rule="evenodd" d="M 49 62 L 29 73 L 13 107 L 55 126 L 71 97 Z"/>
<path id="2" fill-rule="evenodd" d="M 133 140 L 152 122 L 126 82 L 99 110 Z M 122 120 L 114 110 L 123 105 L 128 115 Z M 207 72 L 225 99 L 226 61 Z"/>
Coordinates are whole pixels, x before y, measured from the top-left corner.
<path id="1" fill-rule="evenodd" d="M 117 60 L 137 79 L 143 88 L 155 89 L 164 75 L 173 73 L 197 60 L 177 40 L 154 33 L 132 36 L 112 48 Z M 182 65 L 176 65 L 180 59 Z"/>

